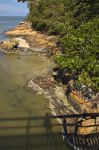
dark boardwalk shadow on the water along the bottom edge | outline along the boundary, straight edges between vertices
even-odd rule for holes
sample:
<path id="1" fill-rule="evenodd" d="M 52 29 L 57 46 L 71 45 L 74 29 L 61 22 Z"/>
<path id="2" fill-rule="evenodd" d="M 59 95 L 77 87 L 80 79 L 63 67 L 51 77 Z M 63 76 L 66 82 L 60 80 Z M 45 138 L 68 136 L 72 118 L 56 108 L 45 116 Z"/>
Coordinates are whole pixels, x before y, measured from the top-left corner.
<path id="1" fill-rule="evenodd" d="M 0 138 L 0 150 L 69 150 L 60 133 Z"/>

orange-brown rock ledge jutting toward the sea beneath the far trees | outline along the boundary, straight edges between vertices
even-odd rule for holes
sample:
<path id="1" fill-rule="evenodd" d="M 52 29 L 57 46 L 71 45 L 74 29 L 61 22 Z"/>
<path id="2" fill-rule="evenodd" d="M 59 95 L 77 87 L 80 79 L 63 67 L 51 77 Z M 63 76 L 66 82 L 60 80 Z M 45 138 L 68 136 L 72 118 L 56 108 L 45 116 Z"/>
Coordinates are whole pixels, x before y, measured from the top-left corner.
<path id="1" fill-rule="evenodd" d="M 32 51 L 46 53 L 48 56 L 60 51 L 57 46 L 58 37 L 34 31 L 31 28 L 31 24 L 27 22 L 19 24 L 13 30 L 7 31 L 4 34 L 10 37 L 24 37 Z"/>

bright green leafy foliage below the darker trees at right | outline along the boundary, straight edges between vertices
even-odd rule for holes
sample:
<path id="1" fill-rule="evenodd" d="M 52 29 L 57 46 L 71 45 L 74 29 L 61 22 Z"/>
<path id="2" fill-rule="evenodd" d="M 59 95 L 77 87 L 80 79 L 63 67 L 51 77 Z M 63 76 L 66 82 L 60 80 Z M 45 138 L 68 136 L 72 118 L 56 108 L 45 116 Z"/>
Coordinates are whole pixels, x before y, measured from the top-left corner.
<path id="1" fill-rule="evenodd" d="M 63 55 L 56 62 L 78 81 L 99 90 L 99 19 L 93 19 L 61 38 Z"/>

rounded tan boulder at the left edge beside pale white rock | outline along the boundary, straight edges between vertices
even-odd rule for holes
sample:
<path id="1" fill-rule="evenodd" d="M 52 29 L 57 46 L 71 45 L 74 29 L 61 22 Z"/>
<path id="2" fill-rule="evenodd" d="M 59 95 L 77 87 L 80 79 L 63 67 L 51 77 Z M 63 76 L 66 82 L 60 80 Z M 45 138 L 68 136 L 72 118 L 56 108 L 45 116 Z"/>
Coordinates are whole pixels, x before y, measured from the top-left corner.
<path id="1" fill-rule="evenodd" d="M 17 48 L 19 45 L 19 42 L 17 40 L 7 40 L 1 43 L 2 48 L 6 50 L 12 50 L 14 48 Z"/>

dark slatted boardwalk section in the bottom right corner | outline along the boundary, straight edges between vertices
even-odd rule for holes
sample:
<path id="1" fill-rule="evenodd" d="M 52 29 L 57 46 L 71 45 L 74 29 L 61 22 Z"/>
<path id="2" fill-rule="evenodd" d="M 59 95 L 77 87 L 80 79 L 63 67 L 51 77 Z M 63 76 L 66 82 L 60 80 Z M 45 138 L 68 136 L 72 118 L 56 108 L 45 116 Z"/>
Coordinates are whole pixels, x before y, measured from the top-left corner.
<path id="1" fill-rule="evenodd" d="M 73 149 L 99 150 L 99 134 L 90 134 L 87 136 L 70 134 L 66 138 L 66 141 Z"/>

